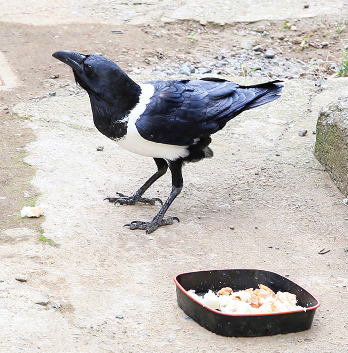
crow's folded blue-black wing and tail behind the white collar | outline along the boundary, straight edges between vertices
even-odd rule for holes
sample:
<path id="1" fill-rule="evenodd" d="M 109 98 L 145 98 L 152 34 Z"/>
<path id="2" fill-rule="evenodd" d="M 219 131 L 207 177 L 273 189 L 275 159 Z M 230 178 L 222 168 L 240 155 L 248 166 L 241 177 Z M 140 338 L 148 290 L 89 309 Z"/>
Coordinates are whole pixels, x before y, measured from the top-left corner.
<path id="1" fill-rule="evenodd" d="M 155 92 L 136 122 L 150 141 L 190 145 L 223 128 L 243 110 L 277 99 L 279 81 L 239 86 L 222 79 L 155 81 Z"/>

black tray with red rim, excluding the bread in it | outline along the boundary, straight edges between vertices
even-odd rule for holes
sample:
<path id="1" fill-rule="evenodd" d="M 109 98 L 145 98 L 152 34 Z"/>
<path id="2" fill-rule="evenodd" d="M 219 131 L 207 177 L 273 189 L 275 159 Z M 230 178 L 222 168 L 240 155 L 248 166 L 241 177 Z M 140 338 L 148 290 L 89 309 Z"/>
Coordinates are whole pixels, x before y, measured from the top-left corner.
<path id="1" fill-rule="evenodd" d="M 304 331 L 311 328 L 319 300 L 305 288 L 277 273 L 255 269 L 205 270 L 181 273 L 174 277 L 178 305 L 194 321 L 206 329 L 222 336 L 269 336 Z M 234 291 L 258 288 L 259 284 L 274 292 L 290 292 L 297 296 L 297 305 L 306 311 L 285 313 L 232 315 L 205 307 L 187 293 L 206 293 L 208 289 L 218 291 L 231 287 Z"/>

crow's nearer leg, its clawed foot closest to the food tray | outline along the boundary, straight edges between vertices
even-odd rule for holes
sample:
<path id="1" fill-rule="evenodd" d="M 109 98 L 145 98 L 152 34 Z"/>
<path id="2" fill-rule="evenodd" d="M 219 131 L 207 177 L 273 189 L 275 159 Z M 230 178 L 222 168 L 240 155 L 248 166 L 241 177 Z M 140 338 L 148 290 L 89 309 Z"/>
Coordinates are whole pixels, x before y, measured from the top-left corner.
<path id="1" fill-rule="evenodd" d="M 182 179 L 181 167 L 181 160 L 170 162 L 169 168 L 172 173 L 172 191 L 169 197 L 167 198 L 166 202 L 160 209 L 159 213 L 154 217 L 154 219 L 150 222 L 133 221 L 131 223 L 126 224 L 125 226 L 129 226 L 130 229 L 146 229 L 146 234 L 149 234 L 154 232 L 160 226 L 167 226 L 173 224 L 174 220 L 179 222 L 178 217 L 169 217 L 165 219 L 163 217 L 167 209 L 174 201 L 174 199 L 179 195 L 183 187 L 184 182 Z"/>

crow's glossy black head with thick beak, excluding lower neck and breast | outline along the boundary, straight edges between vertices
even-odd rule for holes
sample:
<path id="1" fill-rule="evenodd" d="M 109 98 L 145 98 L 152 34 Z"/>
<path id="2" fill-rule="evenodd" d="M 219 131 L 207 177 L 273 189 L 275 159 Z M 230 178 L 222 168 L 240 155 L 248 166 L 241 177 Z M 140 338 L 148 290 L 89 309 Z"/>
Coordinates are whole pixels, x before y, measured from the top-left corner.
<path id="1" fill-rule="evenodd" d="M 112 60 L 96 54 L 80 54 L 62 50 L 53 56 L 69 65 L 74 73 L 76 82 L 89 95 L 96 95 L 109 103 L 123 100 L 127 96 L 138 97 L 139 86 L 132 81 L 121 68 Z"/>

